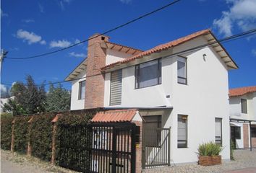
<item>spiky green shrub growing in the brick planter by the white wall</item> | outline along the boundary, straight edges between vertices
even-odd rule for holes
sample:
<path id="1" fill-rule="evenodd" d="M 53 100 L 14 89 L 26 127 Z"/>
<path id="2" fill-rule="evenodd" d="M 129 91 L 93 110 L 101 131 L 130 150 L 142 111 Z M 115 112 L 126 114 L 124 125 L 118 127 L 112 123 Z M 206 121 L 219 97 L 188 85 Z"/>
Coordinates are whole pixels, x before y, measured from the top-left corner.
<path id="1" fill-rule="evenodd" d="M 222 147 L 214 142 L 202 143 L 199 148 L 197 148 L 199 156 L 218 156 Z"/>

